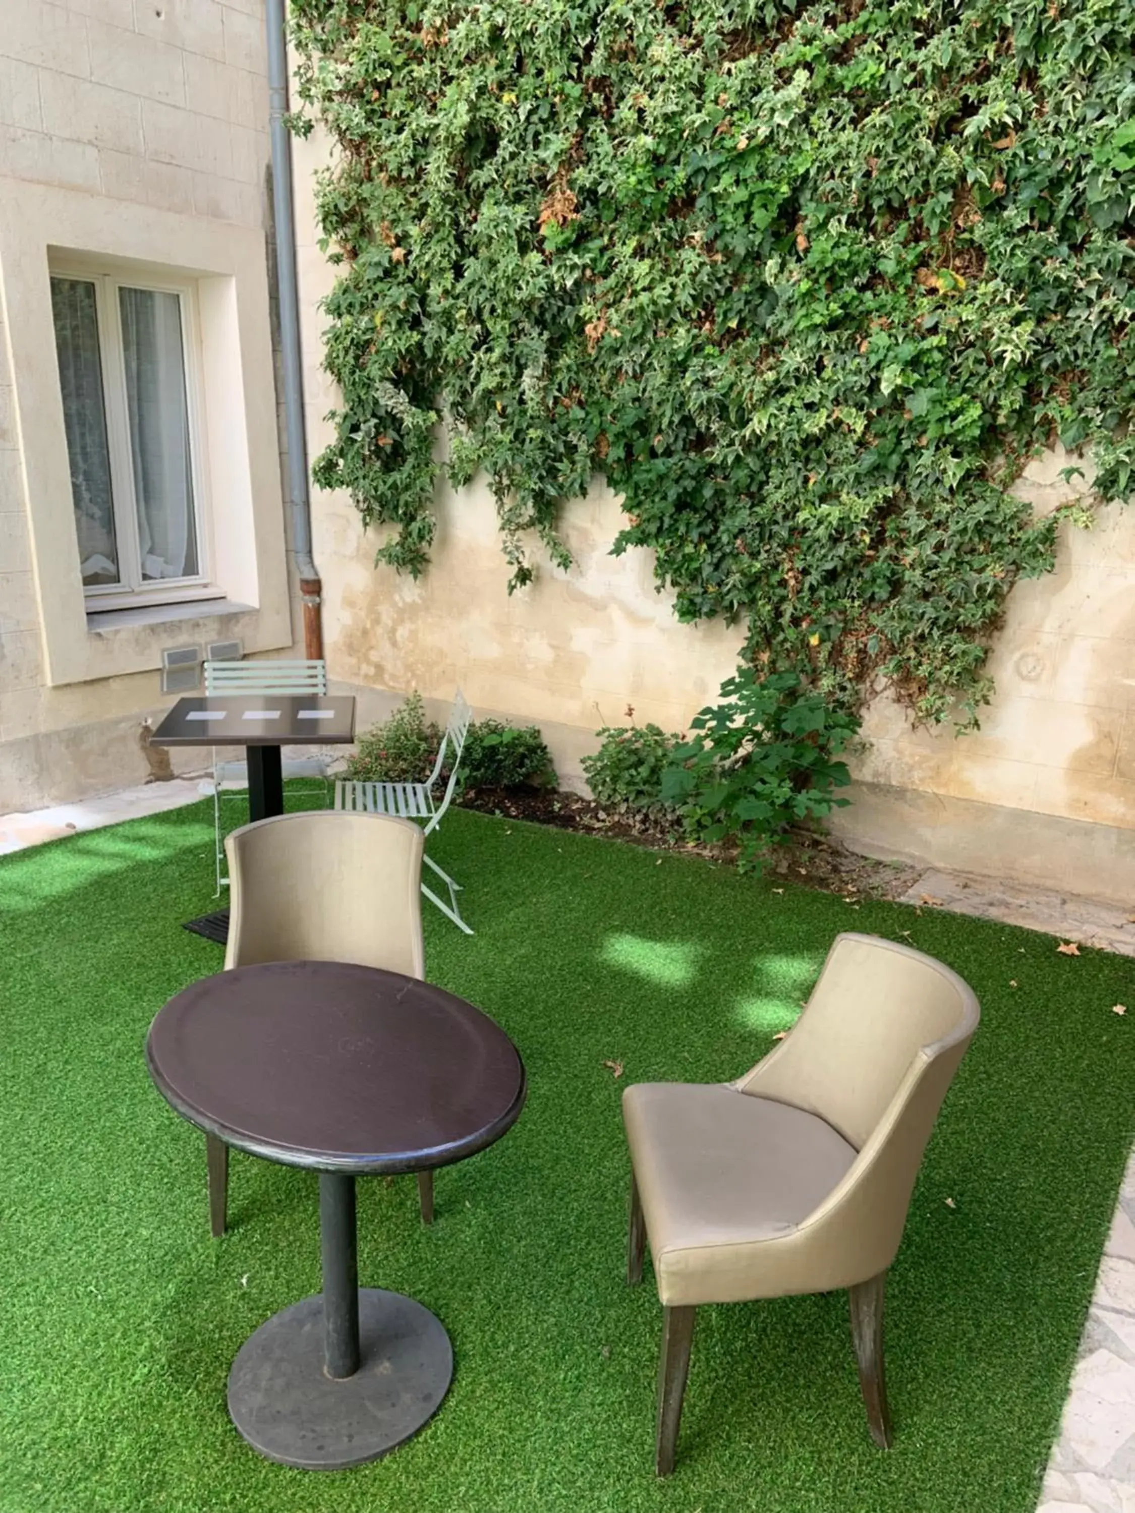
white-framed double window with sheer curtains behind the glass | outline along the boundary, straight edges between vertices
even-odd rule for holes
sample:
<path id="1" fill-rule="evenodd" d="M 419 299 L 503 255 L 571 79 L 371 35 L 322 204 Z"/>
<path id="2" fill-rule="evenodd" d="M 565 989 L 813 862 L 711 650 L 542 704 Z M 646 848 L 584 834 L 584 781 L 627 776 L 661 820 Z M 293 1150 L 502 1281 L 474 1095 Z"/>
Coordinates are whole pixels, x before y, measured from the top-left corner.
<path id="1" fill-rule="evenodd" d="M 50 277 L 88 611 L 218 598 L 194 283 L 82 260 Z"/>

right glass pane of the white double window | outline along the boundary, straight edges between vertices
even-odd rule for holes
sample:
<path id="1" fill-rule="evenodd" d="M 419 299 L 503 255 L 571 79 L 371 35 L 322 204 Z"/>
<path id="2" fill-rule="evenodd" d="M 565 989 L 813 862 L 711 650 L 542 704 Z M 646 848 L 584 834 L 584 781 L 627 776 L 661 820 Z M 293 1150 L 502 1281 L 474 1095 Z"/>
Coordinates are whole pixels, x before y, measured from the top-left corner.
<path id="1" fill-rule="evenodd" d="M 120 289 L 118 300 L 142 579 L 192 578 L 200 566 L 182 300 L 157 289 Z"/>

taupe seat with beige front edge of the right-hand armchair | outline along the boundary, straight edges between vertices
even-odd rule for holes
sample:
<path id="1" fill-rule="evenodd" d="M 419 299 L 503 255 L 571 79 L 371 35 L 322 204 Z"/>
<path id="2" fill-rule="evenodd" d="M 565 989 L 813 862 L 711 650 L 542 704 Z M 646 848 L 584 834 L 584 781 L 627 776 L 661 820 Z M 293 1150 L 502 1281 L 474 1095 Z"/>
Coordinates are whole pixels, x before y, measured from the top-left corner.
<path id="1" fill-rule="evenodd" d="M 760 1285 L 760 1253 L 791 1239 L 844 1177 L 855 1147 L 816 1114 L 729 1085 L 637 1083 L 623 1094 L 623 1120 L 660 1300 L 794 1291 L 778 1265 L 769 1291 Z"/>

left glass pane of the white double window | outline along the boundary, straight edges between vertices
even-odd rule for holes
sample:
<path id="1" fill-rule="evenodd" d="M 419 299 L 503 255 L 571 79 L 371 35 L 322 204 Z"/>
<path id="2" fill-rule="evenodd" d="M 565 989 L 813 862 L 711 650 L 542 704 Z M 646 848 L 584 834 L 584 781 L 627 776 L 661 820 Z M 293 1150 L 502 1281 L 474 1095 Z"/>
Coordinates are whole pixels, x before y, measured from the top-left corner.
<path id="1" fill-rule="evenodd" d="M 85 278 L 51 278 L 51 315 L 83 583 L 118 583 L 95 286 Z"/>

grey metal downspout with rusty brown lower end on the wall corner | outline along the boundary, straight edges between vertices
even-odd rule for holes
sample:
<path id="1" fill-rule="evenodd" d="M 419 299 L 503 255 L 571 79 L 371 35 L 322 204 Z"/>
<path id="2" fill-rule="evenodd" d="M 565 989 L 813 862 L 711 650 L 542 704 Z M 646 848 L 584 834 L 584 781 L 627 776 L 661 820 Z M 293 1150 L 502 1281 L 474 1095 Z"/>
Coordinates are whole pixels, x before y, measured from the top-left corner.
<path id="1" fill-rule="evenodd" d="M 288 130 L 288 18 L 286 0 L 266 0 L 268 100 L 272 144 L 272 219 L 275 271 L 280 294 L 280 346 L 283 360 L 285 434 L 288 439 L 288 493 L 292 505 L 292 545 L 300 572 L 304 617 L 304 657 L 324 655 L 322 583 L 312 558 L 312 496 L 307 484 L 303 366 L 300 359 L 300 292 L 295 274 L 295 210 L 292 204 L 292 138 Z"/>

